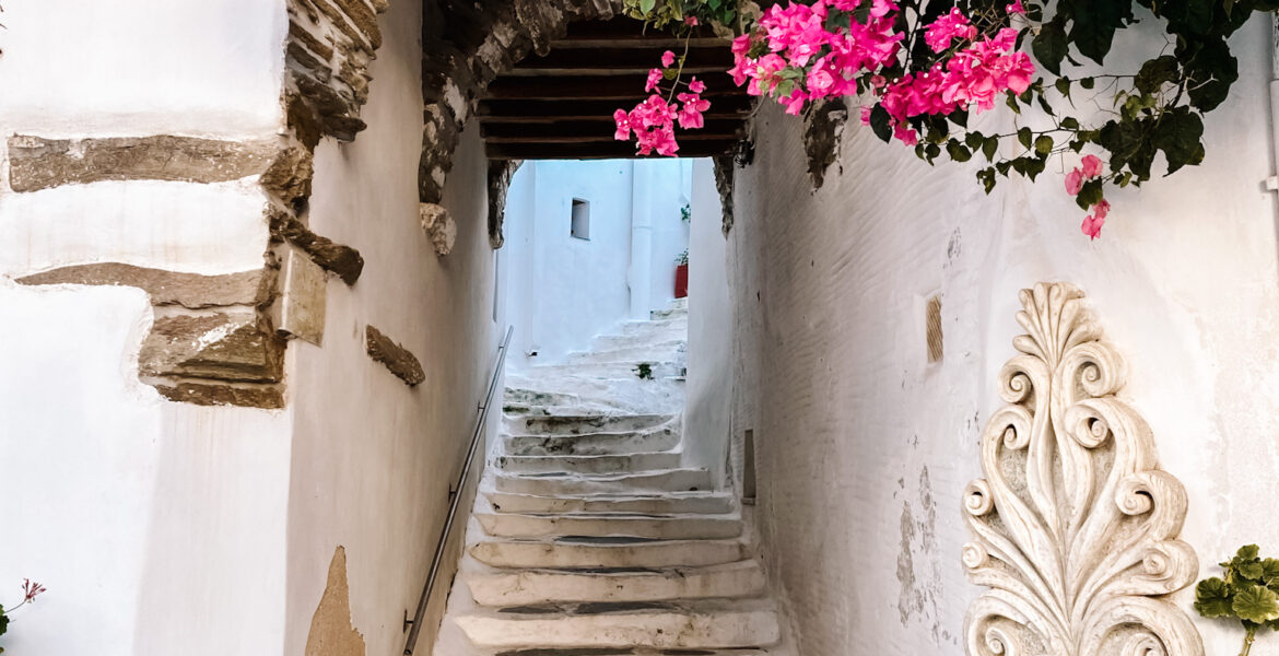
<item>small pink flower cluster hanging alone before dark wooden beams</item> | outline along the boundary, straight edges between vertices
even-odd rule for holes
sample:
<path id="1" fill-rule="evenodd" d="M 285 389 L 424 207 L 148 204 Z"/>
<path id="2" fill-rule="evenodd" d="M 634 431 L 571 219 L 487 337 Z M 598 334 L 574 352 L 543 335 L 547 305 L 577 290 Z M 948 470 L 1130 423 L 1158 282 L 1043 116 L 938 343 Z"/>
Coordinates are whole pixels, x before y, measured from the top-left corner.
<path id="1" fill-rule="evenodd" d="M 670 77 L 668 72 L 675 64 L 675 54 L 668 50 L 661 55 L 661 68 L 648 72 L 648 82 L 645 88 L 650 92 L 647 100 L 636 105 L 631 111 L 619 109 L 613 113 L 613 120 L 616 123 L 614 138 L 628 141 L 633 133 L 640 155 L 651 155 L 656 151 L 657 155 L 673 156 L 679 151 L 679 143 L 675 141 L 675 123 L 679 123 L 683 129 L 705 125 L 702 113 L 711 106 L 709 100 L 702 98 L 702 92 L 706 91 L 705 82 L 694 77 L 688 82 L 687 92 L 675 93 L 674 88 L 680 84 L 679 75 L 675 74 L 677 79 L 670 95 L 674 95 L 678 102 L 671 102 L 669 96 L 663 97 L 661 95 L 661 83 Z"/>

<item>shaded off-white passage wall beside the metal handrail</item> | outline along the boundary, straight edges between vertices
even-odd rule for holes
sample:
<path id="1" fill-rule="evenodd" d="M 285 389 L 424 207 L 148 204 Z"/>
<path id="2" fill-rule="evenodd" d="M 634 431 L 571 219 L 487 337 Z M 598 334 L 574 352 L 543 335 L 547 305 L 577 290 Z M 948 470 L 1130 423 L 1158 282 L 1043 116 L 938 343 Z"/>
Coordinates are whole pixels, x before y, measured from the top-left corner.
<path id="1" fill-rule="evenodd" d="M 290 655 L 306 647 L 339 545 L 367 652 L 402 653 L 402 620 L 426 582 L 498 340 L 478 129 L 463 133 L 449 174 L 443 205 L 458 237 L 439 257 L 418 223 L 421 5 L 393 3 L 380 24 L 385 43 L 361 113 L 368 128 L 316 151 L 310 225 L 358 248 L 366 265 L 354 286 L 329 283 L 324 345 L 289 348 Z M 425 382 L 409 387 L 366 354 L 370 324 L 421 361 Z"/>

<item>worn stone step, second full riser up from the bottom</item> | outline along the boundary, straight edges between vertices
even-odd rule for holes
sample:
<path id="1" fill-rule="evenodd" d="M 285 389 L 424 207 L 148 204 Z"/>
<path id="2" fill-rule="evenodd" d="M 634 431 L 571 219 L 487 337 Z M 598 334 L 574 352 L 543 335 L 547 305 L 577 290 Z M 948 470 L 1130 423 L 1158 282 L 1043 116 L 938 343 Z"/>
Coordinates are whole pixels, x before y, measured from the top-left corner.
<path id="1" fill-rule="evenodd" d="M 467 587 L 481 606 L 531 606 L 756 597 L 764 593 L 765 577 L 757 561 L 744 560 L 665 570 L 512 572 L 472 578 Z"/>

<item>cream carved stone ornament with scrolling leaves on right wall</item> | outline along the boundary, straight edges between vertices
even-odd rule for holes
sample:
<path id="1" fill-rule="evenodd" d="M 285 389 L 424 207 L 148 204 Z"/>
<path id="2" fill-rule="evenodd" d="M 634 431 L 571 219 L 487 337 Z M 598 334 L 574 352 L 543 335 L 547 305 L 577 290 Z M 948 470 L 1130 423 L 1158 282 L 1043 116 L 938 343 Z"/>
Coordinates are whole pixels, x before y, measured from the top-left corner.
<path id="1" fill-rule="evenodd" d="M 1069 284 L 1023 289 L 1008 403 L 986 425 L 985 478 L 964 492 L 971 656 L 1202 656 L 1166 596 L 1198 560 L 1177 540 L 1186 490 L 1159 469 L 1145 419 L 1114 396 L 1124 364 Z"/>

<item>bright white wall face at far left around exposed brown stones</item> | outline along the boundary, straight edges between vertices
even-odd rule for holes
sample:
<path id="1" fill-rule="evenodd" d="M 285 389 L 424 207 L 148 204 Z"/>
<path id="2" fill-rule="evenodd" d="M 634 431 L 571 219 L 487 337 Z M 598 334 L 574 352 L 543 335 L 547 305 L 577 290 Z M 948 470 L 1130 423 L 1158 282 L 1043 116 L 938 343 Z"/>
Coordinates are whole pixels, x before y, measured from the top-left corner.
<path id="1" fill-rule="evenodd" d="M 271 136 L 279 1 L 5 3 L 0 136 Z M 0 139 L 3 143 L 3 139 Z M 0 144 L 0 178 L 8 157 Z M 256 655 L 283 646 L 288 412 L 161 400 L 138 382 L 134 288 L 18 286 L 100 261 L 260 267 L 256 185 L 0 183 L 0 604 L 13 653 Z"/>

